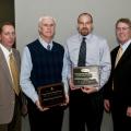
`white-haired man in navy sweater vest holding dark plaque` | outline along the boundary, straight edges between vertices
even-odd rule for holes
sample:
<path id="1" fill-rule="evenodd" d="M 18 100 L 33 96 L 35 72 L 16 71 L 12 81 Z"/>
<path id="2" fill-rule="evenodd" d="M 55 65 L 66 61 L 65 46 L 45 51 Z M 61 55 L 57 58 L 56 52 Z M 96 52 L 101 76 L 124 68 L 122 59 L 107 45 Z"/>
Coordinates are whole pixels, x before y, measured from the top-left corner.
<path id="1" fill-rule="evenodd" d="M 31 131 L 61 131 L 63 108 L 41 107 L 38 87 L 62 81 L 63 47 L 53 41 L 56 21 L 41 16 L 38 21 L 39 37 L 24 48 L 21 68 L 21 86 L 28 97 Z M 68 96 L 67 88 L 66 95 Z"/>

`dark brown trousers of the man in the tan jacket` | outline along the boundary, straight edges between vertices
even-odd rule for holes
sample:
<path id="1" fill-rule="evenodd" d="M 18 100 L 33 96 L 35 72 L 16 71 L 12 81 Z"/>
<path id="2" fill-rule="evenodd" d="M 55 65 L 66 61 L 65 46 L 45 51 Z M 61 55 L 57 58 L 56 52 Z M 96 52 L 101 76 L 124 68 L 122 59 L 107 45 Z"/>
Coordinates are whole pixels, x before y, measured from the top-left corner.
<path id="1" fill-rule="evenodd" d="M 22 130 L 21 103 L 20 98 L 16 96 L 13 119 L 10 123 L 0 124 L 0 131 L 21 131 L 21 130 Z"/>

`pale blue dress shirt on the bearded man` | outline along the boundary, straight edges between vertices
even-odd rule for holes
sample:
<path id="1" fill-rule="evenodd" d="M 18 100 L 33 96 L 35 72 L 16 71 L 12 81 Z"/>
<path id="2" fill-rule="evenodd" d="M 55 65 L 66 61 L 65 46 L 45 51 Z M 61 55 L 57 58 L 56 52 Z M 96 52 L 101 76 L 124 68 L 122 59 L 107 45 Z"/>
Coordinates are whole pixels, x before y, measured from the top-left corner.
<path id="1" fill-rule="evenodd" d="M 62 81 L 68 87 L 68 81 L 71 79 L 71 68 L 78 67 L 79 51 L 82 36 L 76 34 L 67 40 L 64 46 Z M 110 75 L 110 51 L 107 40 L 96 35 L 86 36 L 86 66 L 98 66 L 100 74 L 102 88 Z"/>

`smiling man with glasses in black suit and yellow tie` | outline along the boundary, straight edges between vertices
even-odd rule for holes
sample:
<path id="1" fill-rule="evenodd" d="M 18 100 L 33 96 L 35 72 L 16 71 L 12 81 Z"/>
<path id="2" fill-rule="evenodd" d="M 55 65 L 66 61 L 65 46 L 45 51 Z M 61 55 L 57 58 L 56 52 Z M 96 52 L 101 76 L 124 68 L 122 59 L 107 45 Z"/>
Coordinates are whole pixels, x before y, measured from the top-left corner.
<path id="1" fill-rule="evenodd" d="M 131 131 L 131 21 L 116 23 L 119 46 L 111 51 L 111 74 L 105 85 L 105 109 L 111 111 L 114 131 Z M 118 56 L 122 49 L 122 56 Z M 116 63 L 116 61 L 118 61 Z"/>

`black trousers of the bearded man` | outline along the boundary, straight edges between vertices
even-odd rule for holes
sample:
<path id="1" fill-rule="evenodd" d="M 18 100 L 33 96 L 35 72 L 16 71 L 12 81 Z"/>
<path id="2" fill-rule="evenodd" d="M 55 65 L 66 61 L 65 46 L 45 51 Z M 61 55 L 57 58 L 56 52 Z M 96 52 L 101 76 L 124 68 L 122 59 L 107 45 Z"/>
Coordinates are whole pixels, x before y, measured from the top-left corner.
<path id="1" fill-rule="evenodd" d="M 81 90 L 70 93 L 70 131 L 100 131 L 104 112 L 100 92 L 85 94 Z"/>

